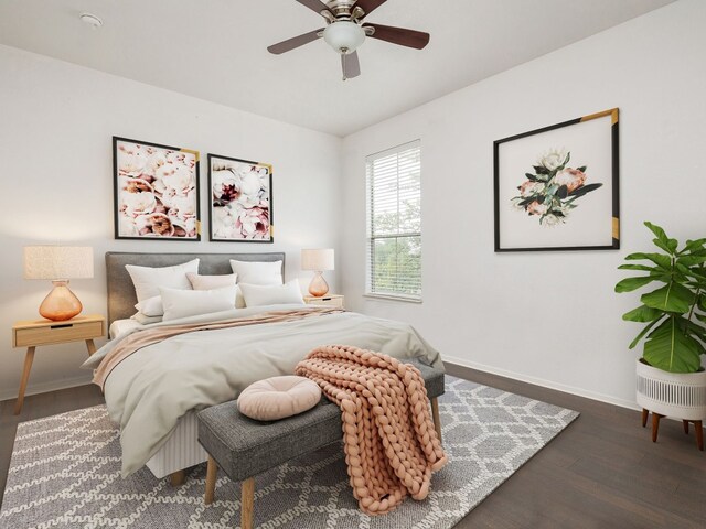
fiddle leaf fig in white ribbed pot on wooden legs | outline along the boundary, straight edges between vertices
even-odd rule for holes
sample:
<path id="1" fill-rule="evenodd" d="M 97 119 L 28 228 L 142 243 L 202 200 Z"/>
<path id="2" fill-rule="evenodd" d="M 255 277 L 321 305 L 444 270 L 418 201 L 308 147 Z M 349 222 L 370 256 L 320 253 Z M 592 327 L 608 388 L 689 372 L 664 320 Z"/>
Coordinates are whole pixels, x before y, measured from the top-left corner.
<path id="1" fill-rule="evenodd" d="M 620 281 L 616 292 L 657 283 L 640 296 L 640 306 L 622 316 L 644 324 L 630 348 L 644 338 L 638 360 L 638 403 L 643 408 L 643 425 L 648 411 L 653 412 L 652 439 L 656 441 L 660 415 L 698 423 L 706 418 L 706 371 L 702 367 L 702 355 L 706 355 L 706 238 L 687 240 L 680 248 L 660 226 L 644 225 L 661 251 L 627 256 L 629 262 L 618 268 L 642 273 Z"/>

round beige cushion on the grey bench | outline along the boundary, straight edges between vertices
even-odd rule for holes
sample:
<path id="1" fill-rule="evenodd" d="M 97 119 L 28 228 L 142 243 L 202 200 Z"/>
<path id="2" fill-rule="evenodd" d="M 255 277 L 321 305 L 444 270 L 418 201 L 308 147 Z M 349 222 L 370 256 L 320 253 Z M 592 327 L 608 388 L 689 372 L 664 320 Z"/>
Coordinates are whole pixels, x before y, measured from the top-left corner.
<path id="1" fill-rule="evenodd" d="M 238 410 L 257 421 L 276 421 L 307 411 L 321 400 L 313 380 L 293 375 L 250 384 L 238 397 Z"/>

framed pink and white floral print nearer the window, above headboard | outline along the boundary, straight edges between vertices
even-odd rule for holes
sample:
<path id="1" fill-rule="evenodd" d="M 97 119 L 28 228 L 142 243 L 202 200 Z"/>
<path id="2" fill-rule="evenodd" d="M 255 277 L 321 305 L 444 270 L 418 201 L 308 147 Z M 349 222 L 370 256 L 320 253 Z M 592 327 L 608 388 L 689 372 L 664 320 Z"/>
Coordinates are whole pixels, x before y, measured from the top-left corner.
<path id="1" fill-rule="evenodd" d="M 211 240 L 274 242 L 272 166 L 208 154 Z"/>

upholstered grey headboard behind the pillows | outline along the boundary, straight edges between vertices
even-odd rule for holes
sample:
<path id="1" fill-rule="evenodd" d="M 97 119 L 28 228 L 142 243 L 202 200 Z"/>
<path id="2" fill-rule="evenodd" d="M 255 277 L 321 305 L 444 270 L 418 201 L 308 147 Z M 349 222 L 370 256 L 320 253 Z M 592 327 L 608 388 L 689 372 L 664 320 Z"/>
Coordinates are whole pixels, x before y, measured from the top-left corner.
<path id="1" fill-rule="evenodd" d="M 171 267 L 191 261 L 199 262 L 199 273 L 218 276 L 233 273 L 231 259 L 238 261 L 282 261 L 282 278 L 285 277 L 285 253 L 132 253 L 108 251 L 106 253 L 106 274 L 108 283 L 108 324 L 116 320 L 130 317 L 135 314 L 137 296 L 126 264 L 140 267 Z"/>

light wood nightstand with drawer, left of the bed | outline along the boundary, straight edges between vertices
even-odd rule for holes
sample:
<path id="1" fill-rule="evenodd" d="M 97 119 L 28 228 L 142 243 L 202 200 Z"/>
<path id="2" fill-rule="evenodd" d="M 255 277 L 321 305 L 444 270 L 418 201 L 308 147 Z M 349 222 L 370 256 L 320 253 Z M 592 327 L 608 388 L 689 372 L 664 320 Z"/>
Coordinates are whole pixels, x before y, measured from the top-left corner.
<path id="1" fill-rule="evenodd" d="M 24 402 L 24 390 L 30 379 L 34 349 L 40 345 L 55 345 L 67 342 L 85 341 L 88 356 L 96 352 L 93 338 L 99 338 L 106 334 L 106 321 L 101 315 L 76 316 L 65 322 L 51 322 L 49 320 L 25 320 L 17 322 L 12 326 L 12 347 L 26 347 L 24 355 L 24 369 L 20 381 L 20 392 L 14 404 L 14 414 L 19 415 Z"/>

